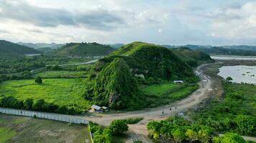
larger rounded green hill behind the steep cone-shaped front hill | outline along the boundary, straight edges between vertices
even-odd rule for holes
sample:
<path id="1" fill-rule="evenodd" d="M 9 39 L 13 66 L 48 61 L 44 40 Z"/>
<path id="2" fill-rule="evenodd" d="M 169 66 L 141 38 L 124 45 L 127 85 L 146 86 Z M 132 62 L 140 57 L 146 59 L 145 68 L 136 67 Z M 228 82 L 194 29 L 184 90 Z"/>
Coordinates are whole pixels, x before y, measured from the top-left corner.
<path id="1" fill-rule="evenodd" d="M 133 42 L 122 46 L 100 62 L 108 63 L 116 57 L 124 59 L 132 74 L 143 74 L 147 78 L 175 80 L 193 77 L 188 64 L 178 58 L 173 51 L 154 44 Z"/>

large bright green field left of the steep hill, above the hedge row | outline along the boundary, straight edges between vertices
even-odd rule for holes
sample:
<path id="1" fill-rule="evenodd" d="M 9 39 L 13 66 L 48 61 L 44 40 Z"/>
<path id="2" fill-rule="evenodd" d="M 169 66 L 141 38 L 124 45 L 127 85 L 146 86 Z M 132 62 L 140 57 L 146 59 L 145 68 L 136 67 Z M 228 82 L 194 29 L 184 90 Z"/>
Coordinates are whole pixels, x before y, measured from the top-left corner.
<path id="1" fill-rule="evenodd" d="M 45 99 L 58 105 L 89 109 L 91 104 L 83 99 L 84 79 L 43 79 L 35 84 L 35 79 L 12 80 L 0 84 L 0 96 L 17 99 Z"/>

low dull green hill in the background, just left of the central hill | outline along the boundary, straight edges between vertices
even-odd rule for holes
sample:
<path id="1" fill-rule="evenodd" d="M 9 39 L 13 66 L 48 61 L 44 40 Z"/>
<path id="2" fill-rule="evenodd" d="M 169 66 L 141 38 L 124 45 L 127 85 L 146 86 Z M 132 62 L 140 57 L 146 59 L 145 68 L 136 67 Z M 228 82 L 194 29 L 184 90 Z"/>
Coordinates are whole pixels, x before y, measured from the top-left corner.
<path id="1" fill-rule="evenodd" d="M 114 51 L 110 46 L 98 43 L 70 43 L 52 52 L 58 56 L 106 56 Z"/>

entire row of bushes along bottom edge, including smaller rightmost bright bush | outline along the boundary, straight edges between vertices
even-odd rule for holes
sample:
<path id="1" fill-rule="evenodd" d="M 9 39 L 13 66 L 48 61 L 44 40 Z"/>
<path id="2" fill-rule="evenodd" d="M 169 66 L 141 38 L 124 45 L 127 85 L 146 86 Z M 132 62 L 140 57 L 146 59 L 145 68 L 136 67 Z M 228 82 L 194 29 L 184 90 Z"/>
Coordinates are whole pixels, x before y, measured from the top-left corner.
<path id="1" fill-rule="evenodd" d="M 197 123 L 191 124 L 183 117 L 169 117 L 160 122 L 147 124 L 149 136 L 152 139 L 163 139 L 166 142 L 213 142 L 213 143 L 245 143 L 238 134 L 227 132 L 219 137 L 214 128 Z"/>

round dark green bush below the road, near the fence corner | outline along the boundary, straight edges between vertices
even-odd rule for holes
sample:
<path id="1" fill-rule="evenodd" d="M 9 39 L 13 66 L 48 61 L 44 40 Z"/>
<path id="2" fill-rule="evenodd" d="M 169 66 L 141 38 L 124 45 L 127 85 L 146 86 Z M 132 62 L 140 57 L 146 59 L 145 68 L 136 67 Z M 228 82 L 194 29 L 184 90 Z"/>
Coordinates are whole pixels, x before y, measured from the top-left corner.
<path id="1" fill-rule="evenodd" d="M 111 134 L 124 134 L 128 131 L 127 123 L 124 120 L 114 120 L 109 126 Z"/>

